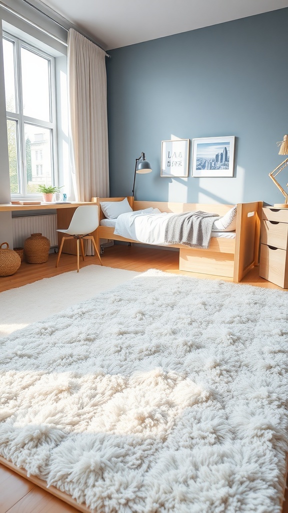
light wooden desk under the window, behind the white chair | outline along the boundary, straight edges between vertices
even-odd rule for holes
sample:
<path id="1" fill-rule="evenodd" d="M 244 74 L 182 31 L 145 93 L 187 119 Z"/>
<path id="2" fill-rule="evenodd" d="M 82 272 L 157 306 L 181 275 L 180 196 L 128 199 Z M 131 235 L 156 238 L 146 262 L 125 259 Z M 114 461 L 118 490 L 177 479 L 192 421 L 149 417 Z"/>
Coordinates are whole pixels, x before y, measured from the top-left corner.
<path id="1" fill-rule="evenodd" d="M 0 203 L 0 216 L 1 212 L 16 212 L 16 211 L 31 211 L 31 210 L 56 210 L 57 213 L 57 229 L 67 229 L 72 216 L 77 207 L 81 205 L 94 205 L 93 202 L 72 202 L 72 203 L 51 203 L 51 204 L 41 204 L 41 205 L 11 205 L 11 203 Z M 61 244 L 61 240 L 64 234 L 58 232 L 58 245 Z M 76 254 L 75 252 L 75 241 L 65 241 L 65 251 L 64 253 Z M 74 244 L 73 244 L 74 243 Z"/>

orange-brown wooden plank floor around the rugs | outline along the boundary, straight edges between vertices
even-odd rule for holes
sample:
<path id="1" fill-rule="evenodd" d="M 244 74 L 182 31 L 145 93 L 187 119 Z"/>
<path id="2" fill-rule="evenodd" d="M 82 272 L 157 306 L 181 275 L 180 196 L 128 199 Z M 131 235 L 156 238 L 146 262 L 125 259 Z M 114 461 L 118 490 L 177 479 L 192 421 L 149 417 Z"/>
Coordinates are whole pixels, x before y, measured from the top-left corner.
<path id="1" fill-rule="evenodd" d="M 12 276 L 0 277 L 0 292 L 15 287 L 21 287 L 27 283 L 41 280 L 43 278 L 49 278 L 63 272 L 73 270 L 76 272 L 75 255 L 62 254 L 57 268 L 55 268 L 56 258 L 57 255 L 54 253 L 49 255 L 49 260 L 45 264 L 27 264 L 23 262 L 18 271 Z M 98 263 L 99 262 L 96 257 L 86 257 L 85 262 L 80 263 L 80 267 Z M 177 270 L 177 251 L 141 248 L 136 245 L 117 245 L 105 248 L 104 254 L 102 255 L 102 263 L 106 267 L 116 267 L 119 269 L 128 269 L 139 272 L 146 271 L 150 268 L 156 268 L 162 271 L 187 274 L 189 276 L 202 279 L 222 279 L 232 281 L 232 279 L 210 276 L 208 274 L 204 275 L 179 271 Z M 255 267 L 248 275 L 246 275 L 241 284 L 246 283 L 258 287 L 283 290 L 277 285 L 260 278 L 258 269 L 258 267 Z M 285 293 L 284 290 L 283 293 Z M 283 513 L 288 513 L 287 493 L 285 495 L 285 499 Z M 77 510 L 56 497 L 53 497 L 47 491 L 39 488 L 25 478 L 18 476 L 9 468 L 0 465 L 0 513 L 8 512 L 77 513 Z M 237 512 L 235 511 L 235 513 Z"/>

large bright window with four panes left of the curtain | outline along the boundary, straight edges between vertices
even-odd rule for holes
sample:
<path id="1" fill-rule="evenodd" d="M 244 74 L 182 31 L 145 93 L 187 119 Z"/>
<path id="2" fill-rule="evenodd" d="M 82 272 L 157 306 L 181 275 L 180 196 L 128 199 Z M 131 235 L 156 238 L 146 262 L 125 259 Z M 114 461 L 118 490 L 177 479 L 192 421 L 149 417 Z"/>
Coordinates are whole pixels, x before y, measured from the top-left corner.
<path id="1" fill-rule="evenodd" d="M 54 57 L 4 33 L 4 77 L 11 194 L 55 185 Z"/>

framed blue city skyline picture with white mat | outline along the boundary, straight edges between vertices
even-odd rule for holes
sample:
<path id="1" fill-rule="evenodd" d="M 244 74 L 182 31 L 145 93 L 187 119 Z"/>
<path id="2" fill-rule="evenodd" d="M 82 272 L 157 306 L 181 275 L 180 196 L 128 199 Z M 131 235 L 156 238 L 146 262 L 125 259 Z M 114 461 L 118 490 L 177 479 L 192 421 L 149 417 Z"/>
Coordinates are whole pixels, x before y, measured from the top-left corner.
<path id="1" fill-rule="evenodd" d="M 193 139 L 192 176 L 233 176 L 235 136 Z"/>

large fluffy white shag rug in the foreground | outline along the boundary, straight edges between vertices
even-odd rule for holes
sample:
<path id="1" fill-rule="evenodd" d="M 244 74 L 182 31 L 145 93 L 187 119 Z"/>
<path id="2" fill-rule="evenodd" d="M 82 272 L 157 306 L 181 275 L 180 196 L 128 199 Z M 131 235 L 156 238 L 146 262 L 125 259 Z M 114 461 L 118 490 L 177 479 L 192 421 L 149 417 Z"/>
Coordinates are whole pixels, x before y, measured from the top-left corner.
<path id="1" fill-rule="evenodd" d="M 150 270 L 15 331 L 0 453 L 97 513 L 280 513 L 287 314 L 282 291 Z"/>

